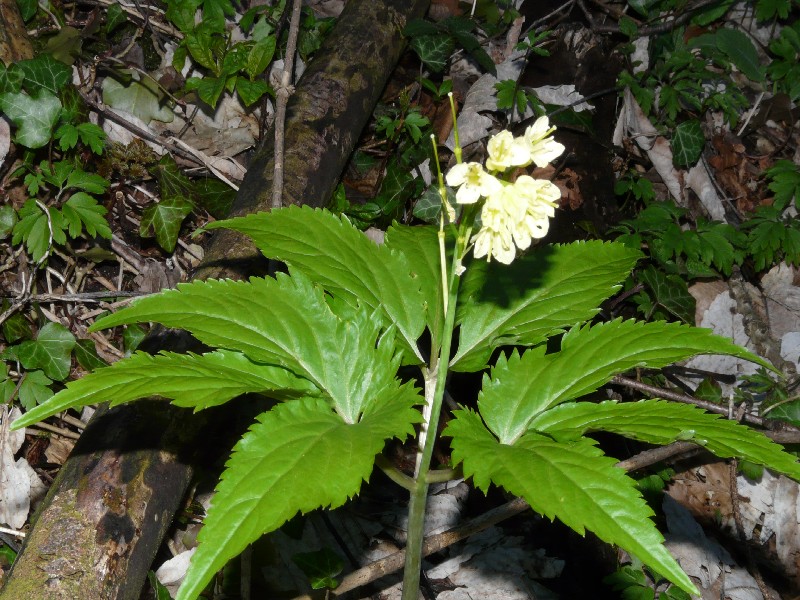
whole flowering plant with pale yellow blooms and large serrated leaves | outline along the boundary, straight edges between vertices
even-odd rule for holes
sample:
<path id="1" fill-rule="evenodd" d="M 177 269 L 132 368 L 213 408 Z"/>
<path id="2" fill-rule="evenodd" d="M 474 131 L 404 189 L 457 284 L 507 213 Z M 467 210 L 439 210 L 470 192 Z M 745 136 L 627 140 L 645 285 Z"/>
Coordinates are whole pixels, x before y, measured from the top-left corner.
<path id="1" fill-rule="evenodd" d="M 155 321 L 190 331 L 210 350 L 136 353 L 68 384 L 13 427 L 149 395 L 194 410 L 247 392 L 276 399 L 226 464 L 178 600 L 196 598 L 228 560 L 298 511 L 346 502 L 376 464 L 410 494 L 404 600 L 418 595 L 428 486 L 462 475 L 481 490 L 494 484 L 521 496 L 579 533 L 593 531 L 697 593 L 662 545 L 635 481 L 588 434 L 695 441 L 718 456 L 800 479 L 795 457 L 760 433 L 690 405 L 580 399 L 617 373 L 696 354 L 771 367 L 707 330 L 592 322 L 640 253 L 600 241 L 530 249 L 547 232 L 558 189 L 528 175 L 505 177 L 557 157 L 563 147 L 551 133 L 546 119 L 519 138 L 501 132 L 488 143 L 485 166 L 461 162 L 457 147 L 446 178 L 439 170 L 445 210 L 438 230 L 393 225 L 380 246 L 346 219 L 308 208 L 210 225 L 247 234 L 265 255 L 284 261 L 288 275 L 181 284 L 103 317 L 93 329 Z M 445 179 L 458 188 L 458 221 Z M 419 369 L 421 394 L 413 380 L 399 377 L 401 365 Z M 460 399 L 463 406 L 447 415 L 440 433 L 453 371 L 484 372 L 483 388 L 477 403 Z M 413 473 L 376 460 L 388 440 L 409 436 L 418 448 Z M 460 473 L 432 469 L 442 436 L 450 439 Z"/>

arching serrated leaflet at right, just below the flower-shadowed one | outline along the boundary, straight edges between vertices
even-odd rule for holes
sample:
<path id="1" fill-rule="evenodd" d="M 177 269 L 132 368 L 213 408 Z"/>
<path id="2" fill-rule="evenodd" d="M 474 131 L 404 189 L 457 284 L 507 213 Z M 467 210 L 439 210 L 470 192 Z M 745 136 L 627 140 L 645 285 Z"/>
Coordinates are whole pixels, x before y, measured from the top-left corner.
<path id="1" fill-rule="evenodd" d="M 697 354 L 727 354 L 759 365 L 766 361 L 708 329 L 663 321 L 617 319 L 594 327 L 574 327 L 561 350 L 514 351 L 500 357 L 484 378 L 478 398 L 481 415 L 503 443 L 511 443 L 543 411 L 589 394 L 617 373 L 635 367 L 658 369 Z"/>

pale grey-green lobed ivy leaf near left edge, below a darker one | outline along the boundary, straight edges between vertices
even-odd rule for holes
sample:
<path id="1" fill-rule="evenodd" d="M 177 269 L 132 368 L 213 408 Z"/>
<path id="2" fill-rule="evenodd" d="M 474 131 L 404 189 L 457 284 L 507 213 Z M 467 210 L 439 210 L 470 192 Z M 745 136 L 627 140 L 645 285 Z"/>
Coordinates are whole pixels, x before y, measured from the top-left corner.
<path id="1" fill-rule="evenodd" d="M 61 101 L 44 88 L 32 96 L 7 92 L 0 96 L 0 109 L 17 126 L 14 140 L 27 148 L 45 146 L 61 114 Z"/>

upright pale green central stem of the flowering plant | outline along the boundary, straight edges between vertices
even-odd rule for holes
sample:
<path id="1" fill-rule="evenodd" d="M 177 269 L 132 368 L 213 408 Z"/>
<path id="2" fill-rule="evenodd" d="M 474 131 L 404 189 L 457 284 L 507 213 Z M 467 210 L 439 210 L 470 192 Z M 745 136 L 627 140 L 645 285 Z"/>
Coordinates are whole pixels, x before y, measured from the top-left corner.
<path id="1" fill-rule="evenodd" d="M 447 381 L 447 370 L 450 362 L 450 347 L 453 341 L 453 329 L 456 319 L 456 300 L 461 277 L 456 276 L 457 269 L 469 241 L 470 227 L 462 222 L 456 239 L 456 248 L 453 253 L 453 262 L 449 273 L 448 293 L 445 297 L 444 327 L 442 330 L 441 351 L 431 358 L 429 370 L 430 377 L 425 378 L 425 397 L 430 402 L 430 417 L 423 423 L 425 443 L 421 456 L 417 459 L 417 472 L 414 480 L 414 489 L 411 491 L 411 500 L 408 505 L 408 535 L 406 539 L 406 564 L 403 573 L 402 600 L 417 600 L 419 595 L 420 568 L 422 566 L 422 544 L 425 538 L 425 505 L 428 499 L 428 473 L 430 470 L 433 447 L 436 443 L 436 433 L 439 425 L 439 415 L 442 410 L 442 398 Z M 443 247 L 444 240 L 440 238 Z M 444 307 L 443 307 L 444 308 Z M 433 394 L 429 395 L 430 386 Z"/>

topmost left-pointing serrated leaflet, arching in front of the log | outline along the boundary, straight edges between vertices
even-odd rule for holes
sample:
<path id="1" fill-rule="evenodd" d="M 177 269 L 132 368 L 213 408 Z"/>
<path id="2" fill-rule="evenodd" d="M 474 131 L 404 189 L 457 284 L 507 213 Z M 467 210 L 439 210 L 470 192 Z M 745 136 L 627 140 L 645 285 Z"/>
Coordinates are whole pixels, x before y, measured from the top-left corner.
<path id="1" fill-rule="evenodd" d="M 379 246 L 346 219 L 308 207 L 210 223 L 248 235 L 270 258 L 286 262 L 351 305 L 361 304 L 396 324 L 408 357 L 422 360 L 417 339 L 425 327 L 425 298 L 405 256 Z M 407 358 L 408 358 L 407 357 Z"/>

